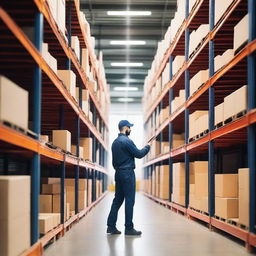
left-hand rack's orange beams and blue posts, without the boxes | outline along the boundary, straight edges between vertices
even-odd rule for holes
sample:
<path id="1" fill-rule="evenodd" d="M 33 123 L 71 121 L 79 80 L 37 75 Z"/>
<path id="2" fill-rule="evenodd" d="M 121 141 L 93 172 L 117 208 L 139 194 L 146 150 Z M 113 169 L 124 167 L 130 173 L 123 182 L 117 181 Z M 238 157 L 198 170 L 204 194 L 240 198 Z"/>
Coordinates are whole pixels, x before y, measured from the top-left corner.
<path id="1" fill-rule="evenodd" d="M 68 41 L 60 32 L 50 12 L 48 2 L 3 1 L 0 5 L 0 73 L 30 92 L 29 120 L 33 128 L 24 130 L 13 124 L 0 124 L 0 153 L 4 173 L 31 175 L 31 248 L 24 255 L 42 255 L 43 247 L 53 238 L 64 235 L 71 225 L 87 214 L 105 195 L 107 190 L 108 154 L 108 106 L 104 110 L 94 92 L 88 86 L 88 77 L 71 49 L 71 35 L 80 39 L 83 48 L 89 50 L 89 58 L 100 89 L 109 104 L 109 91 L 96 65 L 96 58 L 81 22 L 79 1 L 66 1 L 66 28 Z M 34 42 L 22 30 L 23 26 L 34 27 Z M 44 38 L 44 39 L 43 39 Z M 57 74 L 48 66 L 41 55 L 42 42 L 49 44 L 49 50 L 58 59 L 58 69 L 72 69 L 82 89 L 88 89 L 93 122 L 82 111 L 79 104 L 63 86 Z M 96 120 L 100 119 L 99 130 Z M 54 129 L 67 129 L 72 133 L 72 142 L 77 145 L 77 156 L 51 148 L 41 141 L 41 134 L 50 134 Z M 93 162 L 79 158 L 79 139 L 93 138 Z M 96 150 L 99 159 L 96 163 Z M 29 171 L 11 170 L 13 159 L 26 162 Z M 16 161 L 16 159 L 15 159 Z M 57 168 L 55 173 L 61 178 L 61 225 L 39 238 L 38 214 L 41 166 Z M 75 216 L 64 220 L 65 177 L 75 177 Z M 79 176 L 92 179 L 92 204 L 78 211 Z M 102 195 L 96 198 L 96 180 L 103 182 Z"/>

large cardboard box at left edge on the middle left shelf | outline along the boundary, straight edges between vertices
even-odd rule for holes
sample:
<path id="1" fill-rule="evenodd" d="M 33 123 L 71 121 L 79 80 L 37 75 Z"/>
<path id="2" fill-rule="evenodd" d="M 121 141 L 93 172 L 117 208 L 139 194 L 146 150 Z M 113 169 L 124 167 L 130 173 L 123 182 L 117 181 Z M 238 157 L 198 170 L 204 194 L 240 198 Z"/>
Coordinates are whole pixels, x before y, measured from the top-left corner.
<path id="1" fill-rule="evenodd" d="M 28 129 L 28 92 L 0 75 L 0 120 Z"/>

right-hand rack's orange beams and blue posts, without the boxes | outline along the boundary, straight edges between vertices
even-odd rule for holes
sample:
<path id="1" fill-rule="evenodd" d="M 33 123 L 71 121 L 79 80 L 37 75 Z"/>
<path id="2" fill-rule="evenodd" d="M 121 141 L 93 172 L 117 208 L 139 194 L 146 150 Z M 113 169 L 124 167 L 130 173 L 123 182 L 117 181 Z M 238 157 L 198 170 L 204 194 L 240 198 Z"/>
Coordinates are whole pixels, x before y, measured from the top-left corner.
<path id="1" fill-rule="evenodd" d="M 149 84 L 152 89 L 156 81 L 162 74 L 166 63 L 170 63 L 170 81 L 157 100 L 154 101 L 149 110 L 145 113 L 145 127 L 150 126 L 150 117 L 156 116 L 159 110 L 169 105 L 170 115 L 160 127 L 155 131 L 155 135 L 160 141 L 170 141 L 170 150 L 168 153 L 161 154 L 155 159 L 144 163 L 144 178 L 149 179 L 152 170 L 156 164 L 169 164 L 169 201 L 161 200 L 155 196 L 145 193 L 145 195 L 154 201 L 176 211 L 189 216 L 194 220 L 201 220 L 213 228 L 229 233 L 242 241 L 245 241 L 248 250 L 256 246 L 255 229 L 255 135 L 256 135 L 256 94 L 255 94 L 255 52 L 256 52 L 256 24 L 255 24 L 255 3 L 253 0 L 234 0 L 230 7 L 223 14 L 220 21 L 214 25 L 214 0 L 198 0 L 189 13 L 189 1 L 186 1 L 186 17 L 178 30 L 174 41 L 166 51 L 161 65 L 158 67 L 154 78 Z M 249 40 L 248 43 L 235 55 L 235 57 L 222 69 L 214 73 L 214 53 L 224 52 L 223 46 L 230 45 L 232 33 L 228 33 L 234 23 L 237 23 L 238 17 L 243 17 L 248 11 L 249 14 Z M 189 33 L 191 29 L 198 28 L 200 24 L 209 23 L 210 32 L 203 40 L 196 51 L 189 56 Z M 233 24 L 233 25 L 232 25 Z M 231 25 L 231 28 L 230 28 Z M 185 63 L 178 73 L 172 75 L 172 62 L 174 56 L 185 55 Z M 208 64 L 209 63 L 209 64 Z M 192 96 L 189 97 L 189 78 L 195 74 L 196 69 L 209 68 L 209 80 L 202 85 Z M 248 68 L 247 68 L 248 67 Z M 221 83 L 222 79 L 233 78 L 231 83 L 233 87 L 225 88 Z M 230 83 L 229 83 L 230 84 Z M 248 109 L 247 113 L 241 118 L 224 125 L 219 129 L 214 127 L 214 105 L 220 102 L 230 92 L 234 91 L 236 86 L 242 84 L 248 85 Z M 174 95 L 177 95 L 179 89 L 185 89 L 186 102 L 171 113 L 171 102 Z M 223 90 L 225 89 L 225 90 Z M 223 92 L 221 91 L 223 90 Z M 149 89 L 150 91 L 150 89 Z M 206 104 L 207 102 L 207 104 Z M 216 104 L 216 105 L 217 105 Z M 209 132 L 205 136 L 189 141 L 189 111 L 190 110 L 209 110 Z M 185 145 L 179 148 L 171 149 L 172 137 L 174 132 L 185 132 Z M 165 139 L 165 140 L 164 140 Z M 240 144 L 247 144 L 248 167 L 250 169 L 250 217 L 249 230 L 243 230 L 237 226 L 230 225 L 214 218 L 214 151 Z M 209 180 L 209 215 L 197 212 L 189 208 L 189 160 L 198 155 L 204 155 L 208 152 L 208 180 Z M 183 160 L 185 162 L 186 172 L 186 196 L 185 207 L 172 202 L 172 163 Z"/>

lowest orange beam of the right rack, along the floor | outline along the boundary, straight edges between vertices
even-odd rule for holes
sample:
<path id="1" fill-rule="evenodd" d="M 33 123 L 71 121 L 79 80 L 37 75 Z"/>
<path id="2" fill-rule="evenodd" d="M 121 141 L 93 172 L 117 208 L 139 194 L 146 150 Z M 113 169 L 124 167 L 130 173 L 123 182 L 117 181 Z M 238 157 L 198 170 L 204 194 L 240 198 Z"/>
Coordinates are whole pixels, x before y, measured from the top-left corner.
<path id="1" fill-rule="evenodd" d="M 248 230 L 241 229 L 235 225 L 218 220 L 214 217 L 207 216 L 206 214 L 200 213 L 191 208 L 185 208 L 185 207 L 182 207 L 175 203 L 159 199 L 159 198 L 149 195 L 145 192 L 143 192 L 143 194 L 146 197 L 152 199 L 153 201 L 155 201 L 155 202 L 157 202 L 175 212 L 184 213 L 184 216 L 187 216 L 192 220 L 198 219 L 200 221 L 203 221 L 203 222 L 209 224 L 209 230 L 213 230 L 214 228 L 216 228 L 218 230 L 224 231 L 224 232 L 244 241 L 246 248 L 249 251 L 251 251 L 253 249 L 252 247 L 256 247 L 256 234 L 250 233 Z"/>

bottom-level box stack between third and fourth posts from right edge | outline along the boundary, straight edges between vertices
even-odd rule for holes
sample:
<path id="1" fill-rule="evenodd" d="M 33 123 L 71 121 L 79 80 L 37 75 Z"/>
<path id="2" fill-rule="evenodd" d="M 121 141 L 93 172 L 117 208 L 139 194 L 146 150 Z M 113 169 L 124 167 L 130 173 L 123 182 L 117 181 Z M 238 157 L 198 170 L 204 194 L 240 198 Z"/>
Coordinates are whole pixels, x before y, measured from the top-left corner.
<path id="1" fill-rule="evenodd" d="M 172 166 L 172 201 L 185 206 L 185 164 L 174 163 Z"/>

